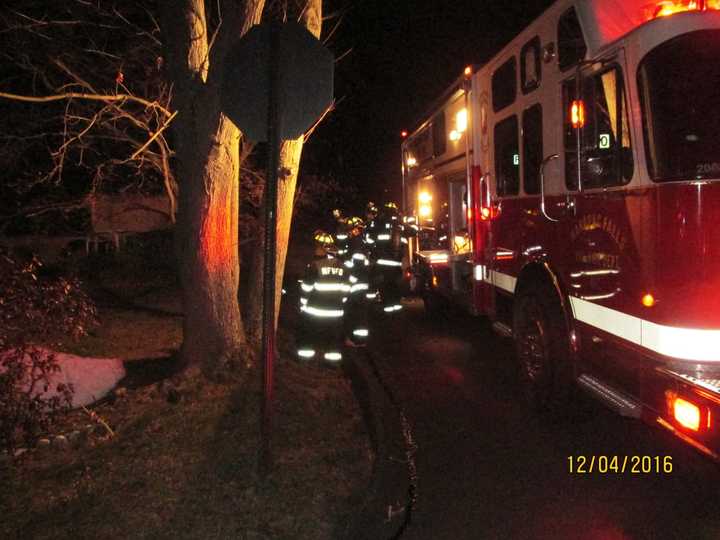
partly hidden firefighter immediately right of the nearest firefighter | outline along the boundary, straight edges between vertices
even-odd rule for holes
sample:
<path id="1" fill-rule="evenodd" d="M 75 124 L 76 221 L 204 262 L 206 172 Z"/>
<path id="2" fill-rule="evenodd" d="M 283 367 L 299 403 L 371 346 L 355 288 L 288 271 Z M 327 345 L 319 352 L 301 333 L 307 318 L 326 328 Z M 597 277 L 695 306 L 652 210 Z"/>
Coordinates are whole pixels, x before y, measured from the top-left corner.
<path id="1" fill-rule="evenodd" d="M 350 269 L 350 297 L 345 316 L 346 345 L 361 347 L 370 335 L 368 302 L 375 298 L 370 292 L 370 256 L 363 240 L 363 221 L 359 217 L 348 220 L 349 239 L 346 268 Z"/>

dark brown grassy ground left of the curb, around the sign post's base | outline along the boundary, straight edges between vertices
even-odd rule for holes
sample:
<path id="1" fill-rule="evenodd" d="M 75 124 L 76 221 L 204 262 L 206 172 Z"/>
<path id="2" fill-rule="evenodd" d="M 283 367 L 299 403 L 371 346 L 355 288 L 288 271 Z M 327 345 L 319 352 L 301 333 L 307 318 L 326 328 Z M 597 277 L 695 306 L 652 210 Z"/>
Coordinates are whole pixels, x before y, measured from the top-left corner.
<path id="1" fill-rule="evenodd" d="M 134 279 L 132 253 L 98 257 L 101 324 L 66 348 L 126 359 L 127 377 L 14 464 L 0 463 L 0 538 L 342 537 L 372 449 L 342 370 L 292 359 L 292 309 L 279 334 L 275 467 L 261 479 L 259 370 L 213 383 L 173 378 L 174 279 Z"/>

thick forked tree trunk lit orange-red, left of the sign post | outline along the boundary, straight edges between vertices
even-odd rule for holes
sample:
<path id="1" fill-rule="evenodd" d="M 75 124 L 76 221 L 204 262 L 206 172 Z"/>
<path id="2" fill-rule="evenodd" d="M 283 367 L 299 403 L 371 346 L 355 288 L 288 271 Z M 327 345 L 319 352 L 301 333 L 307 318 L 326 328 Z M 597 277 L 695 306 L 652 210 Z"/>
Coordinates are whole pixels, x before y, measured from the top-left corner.
<path id="1" fill-rule="evenodd" d="M 203 0 L 165 0 L 163 29 L 179 111 L 176 246 L 185 318 L 181 359 L 206 373 L 245 348 L 238 305 L 240 131 L 220 111 L 224 52 L 260 20 L 264 0 L 222 4 L 210 50 Z M 213 69 L 211 69 L 213 68 Z"/>

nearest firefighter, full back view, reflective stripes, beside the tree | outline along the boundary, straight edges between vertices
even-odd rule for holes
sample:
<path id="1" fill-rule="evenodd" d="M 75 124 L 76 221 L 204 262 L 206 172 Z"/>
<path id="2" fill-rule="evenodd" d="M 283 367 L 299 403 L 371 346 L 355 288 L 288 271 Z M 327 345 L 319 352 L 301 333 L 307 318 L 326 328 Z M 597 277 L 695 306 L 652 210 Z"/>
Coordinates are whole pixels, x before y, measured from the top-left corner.
<path id="1" fill-rule="evenodd" d="M 350 294 L 349 269 L 330 253 L 332 236 L 315 231 L 315 253 L 300 282 L 300 322 L 297 354 L 330 363 L 342 360 L 343 315 Z"/>

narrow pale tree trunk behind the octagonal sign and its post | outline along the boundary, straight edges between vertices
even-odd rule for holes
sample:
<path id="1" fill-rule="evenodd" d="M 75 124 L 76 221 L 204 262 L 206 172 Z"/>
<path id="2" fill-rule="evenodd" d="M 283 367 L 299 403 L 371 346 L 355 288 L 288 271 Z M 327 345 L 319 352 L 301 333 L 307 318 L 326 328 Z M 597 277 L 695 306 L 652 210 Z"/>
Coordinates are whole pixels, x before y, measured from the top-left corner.
<path id="1" fill-rule="evenodd" d="M 320 38 L 322 30 L 322 0 L 308 0 L 302 12 L 302 21 L 305 27 L 316 37 Z M 285 275 L 285 258 L 290 242 L 290 229 L 292 227 L 293 202 L 297 186 L 300 157 L 302 155 L 304 138 L 300 136 L 294 141 L 284 141 L 280 150 L 280 171 L 278 184 L 277 204 L 277 252 L 275 260 L 275 326 L 277 327 L 282 302 L 282 284 Z M 261 230 L 258 239 L 249 250 L 250 261 L 247 270 L 250 272 L 248 289 L 243 298 L 243 315 L 245 331 L 249 343 L 254 348 L 260 347 L 262 337 L 262 269 L 263 269 L 263 239 L 264 230 Z"/>

